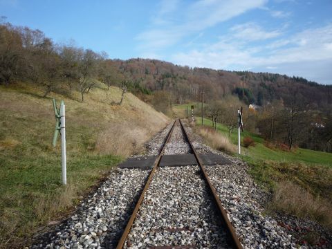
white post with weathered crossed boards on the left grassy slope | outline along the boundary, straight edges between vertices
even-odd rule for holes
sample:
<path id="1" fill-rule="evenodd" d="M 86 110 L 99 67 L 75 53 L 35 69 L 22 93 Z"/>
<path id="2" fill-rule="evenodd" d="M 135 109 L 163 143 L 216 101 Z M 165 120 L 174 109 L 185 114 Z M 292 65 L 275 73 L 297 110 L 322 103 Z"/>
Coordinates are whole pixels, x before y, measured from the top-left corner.
<path id="1" fill-rule="evenodd" d="M 61 100 L 60 109 L 57 109 L 57 102 L 53 99 L 53 109 L 55 113 L 55 131 L 53 136 L 53 146 L 57 145 L 57 137 L 61 134 L 61 155 L 62 155 L 62 184 L 67 184 L 66 169 L 66 121 L 65 121 L 65 105 Z"/>

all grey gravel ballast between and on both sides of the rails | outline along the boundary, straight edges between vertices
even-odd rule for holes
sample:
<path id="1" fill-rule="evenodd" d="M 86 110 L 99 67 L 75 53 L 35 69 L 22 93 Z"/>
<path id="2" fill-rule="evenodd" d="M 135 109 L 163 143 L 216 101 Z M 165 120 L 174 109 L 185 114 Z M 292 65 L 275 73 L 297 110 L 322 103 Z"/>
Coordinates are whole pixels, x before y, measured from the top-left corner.
<path id="1" fill-rule="evenodd" d="M 147 142 L 145 156 L 158 155 L 172 124 Z M 299 246 L 291 228 L 297 224 L 297 228 L 306 225 L 315 230 L 315 223 L 265 215 L 264 203 L 269 194 L 252 181 L 248 165 L 204 145 L 190 127 L 186 130 L 199 154 L 221 154 L 232 161 L 231 165 L 205 169 L 243 248 L 313 248 Z M 192 151 L 176 124 L 165 154 L 188 153 Z M 149 172 L 113 169 L 98 190 L 77 206 L 75 214 L 52 232 L 39 236 L 30 248 L 115 248 Z M 169 245 L 228 248 L 218 217 L 199 166 L 161 167 L 151 181 L 125 248 Z M 317 231 L 323 232 L 319 226 Z M 320 248 L 330 245 L 328 241 Z"/>

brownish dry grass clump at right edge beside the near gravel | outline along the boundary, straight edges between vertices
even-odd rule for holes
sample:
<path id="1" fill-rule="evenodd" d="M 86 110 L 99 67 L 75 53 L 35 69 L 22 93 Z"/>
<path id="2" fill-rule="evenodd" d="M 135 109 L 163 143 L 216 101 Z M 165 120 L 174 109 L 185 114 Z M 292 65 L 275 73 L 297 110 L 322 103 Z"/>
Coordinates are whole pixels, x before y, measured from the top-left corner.
<path id="1" fill-rule="evenodd" d="M 277 183 L 270 210 L 292 214 L 302 219 L 313 219 L 332 229 L 332 203 L 290 181 Z"/>

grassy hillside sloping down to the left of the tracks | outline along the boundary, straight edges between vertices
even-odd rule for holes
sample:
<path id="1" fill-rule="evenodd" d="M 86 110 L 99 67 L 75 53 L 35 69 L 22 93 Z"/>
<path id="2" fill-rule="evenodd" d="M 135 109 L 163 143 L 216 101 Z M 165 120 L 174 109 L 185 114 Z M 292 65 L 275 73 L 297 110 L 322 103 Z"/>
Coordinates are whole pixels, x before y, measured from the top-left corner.
<path id="1" fill-rule="evenodd" d="M 59 219 L 113 165 L 165 127 L 166 116 L 131 93 L 102 84 L 71 99 L 41 98 L 42 89 L 0 86 L 0 248 L 21 247 L 42 225 Z M 52 98 L 66 104 L 67 182 L 61 185 L 60 140 L 53 148 Z"/>

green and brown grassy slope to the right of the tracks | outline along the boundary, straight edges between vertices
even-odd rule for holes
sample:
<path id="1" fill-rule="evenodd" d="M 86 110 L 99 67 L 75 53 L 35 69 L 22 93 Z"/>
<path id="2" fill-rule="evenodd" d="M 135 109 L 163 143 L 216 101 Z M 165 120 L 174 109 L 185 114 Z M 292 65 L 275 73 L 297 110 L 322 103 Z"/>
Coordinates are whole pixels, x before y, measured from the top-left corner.
<path id="1" fill-rule="evenodd" d="M 234 149 L 237 131 L 228 136 L 228 128 L 223 124 L 217 124 L 217 133 L 211 128 L 210 120 L 204 119 L 203 124 L 201 127 L 201 118 L 197 117 L 196 131 L 203 135 L 205 142 L 238 156 Z M 244 148 L 243 138 L 248 136 L 255 141 L 255 146 Z M 272 192 L 273 197 L 266 205 L 268 212 L 313 219 L 332 230 L 331 153 L 301 148 L 284 151 L 266 145 L 257 134 L 244 131 L 240 157 L 250 165 L 249 173 L 255 181 Z"/>

